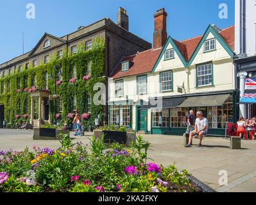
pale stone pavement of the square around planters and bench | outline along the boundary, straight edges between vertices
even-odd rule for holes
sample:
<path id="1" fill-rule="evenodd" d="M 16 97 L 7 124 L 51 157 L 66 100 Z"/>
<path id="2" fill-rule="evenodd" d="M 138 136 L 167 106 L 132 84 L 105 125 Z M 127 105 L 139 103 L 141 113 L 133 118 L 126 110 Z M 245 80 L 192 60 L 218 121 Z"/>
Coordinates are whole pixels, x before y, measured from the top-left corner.
<path id="1" fill-rule="evenodd" d="M 32 149 L 33 145 L 60 147 L 58 140 L 33 140 L 32 135 L 30 130 L 0 129 L 0 151 L 22 151 L 27 146 Z M 151 143 L 148 157 L 157 164 L 175 163 L 180 170 L 188 170 L 217 192 L 256 192 L 256 140 L 242 140 L 242 149 L 231 150 L 230 140 L 225 138 L 206 137 L 203 147 L 197 147 L 198 139 L 194 139 L 195 145 L 185 148 L 182 136 L 142 136 Z M 81 141 L 89 146 L 91 138 L 92 133 L 85 133 L 73 138 L 73 142 Z M 227 184 L 223 185 L 224 182 Z"/>

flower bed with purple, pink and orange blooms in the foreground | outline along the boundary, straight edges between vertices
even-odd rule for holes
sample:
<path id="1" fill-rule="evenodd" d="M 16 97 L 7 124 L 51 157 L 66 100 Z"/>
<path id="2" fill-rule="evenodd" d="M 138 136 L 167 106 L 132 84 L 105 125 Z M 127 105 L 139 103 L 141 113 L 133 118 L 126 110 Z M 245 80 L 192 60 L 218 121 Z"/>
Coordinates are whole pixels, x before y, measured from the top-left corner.
<path id="1" fill-rule="evenodd" d="M 82 143 L 62 135 L 61 147 L 0 151 L 0 192 L 199 192 L 186 170 L 147 163 L 150 144 L 137 137 L 129 149 L 92 138 Z"/>

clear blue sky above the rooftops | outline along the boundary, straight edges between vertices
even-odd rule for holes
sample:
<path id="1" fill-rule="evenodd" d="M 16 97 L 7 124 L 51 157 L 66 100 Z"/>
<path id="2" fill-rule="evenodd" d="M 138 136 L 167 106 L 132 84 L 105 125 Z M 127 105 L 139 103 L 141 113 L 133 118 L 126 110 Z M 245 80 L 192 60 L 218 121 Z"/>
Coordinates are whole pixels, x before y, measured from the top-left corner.
<path id="1" fill-rule="evenodd" d="M 35 5 L 35 19 L 28 19 L 27 4 Z M 227 19 L 220 19 L 219 4 L 228 6 Z M 165 8 L 167 35 L 184 40 L 205 33 L 209 24 L 219 28 L 234 25 L 234 0 L 3 0 L 0 3 L 0 63 L 37 45 L 49 33 L 62 37 L 103 18 L 117 22 L 117 11 L 123 7 L 129 16 L 129 31 L 153 42 L 154 13 Z"/>

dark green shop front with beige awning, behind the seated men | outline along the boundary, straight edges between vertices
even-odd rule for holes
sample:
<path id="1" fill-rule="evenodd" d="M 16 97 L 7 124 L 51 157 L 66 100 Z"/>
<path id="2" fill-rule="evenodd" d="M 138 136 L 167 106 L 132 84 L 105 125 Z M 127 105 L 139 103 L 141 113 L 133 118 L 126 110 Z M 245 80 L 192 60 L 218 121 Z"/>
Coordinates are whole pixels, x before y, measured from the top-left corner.
<path id="1" fill-rule="evenodd" d="M 187 115 L 190 110 L 194 110 L 203 111 L 204 117 L 208 119 L 209 135 L 224 136 L 226 122 L 236 121 L 236 100 L 235 90 L 163 99 L 162 108 L 148 108 L 151 111 L 151 134 L 182 135 L 187 129 Z M 164 103 L 167 101 L 169 105 Z"/>

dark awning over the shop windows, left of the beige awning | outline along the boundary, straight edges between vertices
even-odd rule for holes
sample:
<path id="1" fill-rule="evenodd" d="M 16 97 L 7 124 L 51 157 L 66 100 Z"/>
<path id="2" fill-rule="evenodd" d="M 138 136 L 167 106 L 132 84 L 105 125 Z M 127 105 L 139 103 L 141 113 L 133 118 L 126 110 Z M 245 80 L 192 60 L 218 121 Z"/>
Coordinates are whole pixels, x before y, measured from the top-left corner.
<path id="1" fill-rule="evenodd" d="M 139 110 L 176 108 L 180 103 L 185 101 L 186 97 L 166 98 L 166 99 L 149 99 L 148 105 L 144 105 Z"/>

